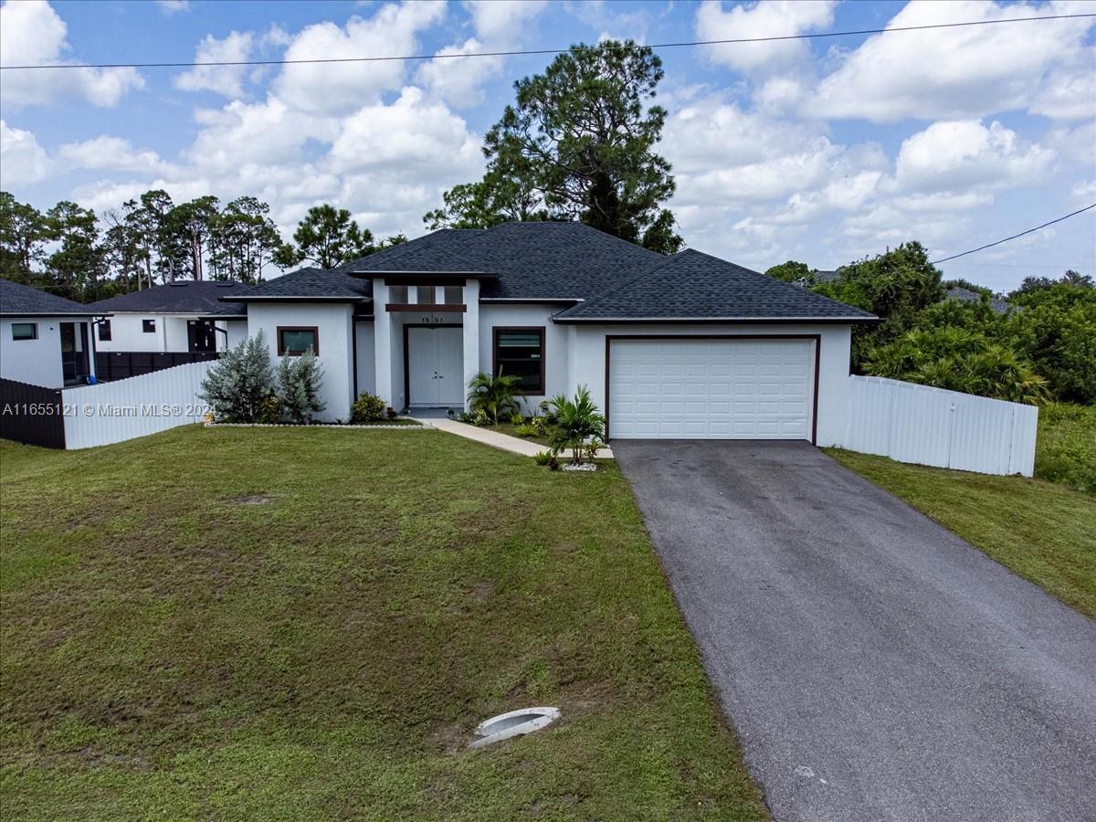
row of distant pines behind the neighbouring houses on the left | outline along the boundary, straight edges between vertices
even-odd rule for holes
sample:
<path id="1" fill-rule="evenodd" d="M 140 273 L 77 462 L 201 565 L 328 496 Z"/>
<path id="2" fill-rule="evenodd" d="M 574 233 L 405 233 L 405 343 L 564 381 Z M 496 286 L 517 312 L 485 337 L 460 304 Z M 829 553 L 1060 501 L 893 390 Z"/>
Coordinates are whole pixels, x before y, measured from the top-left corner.
<path id="1" fill-rule="evenodd" d="M 271 266 L 329 269 L 404 240 L 376 242 L 349 210 L 320 205 L 284 242 L 270 206 L 250 195 L 221 207 L 157 189 L 96 215 L 70 201 L 41 212 L 0 192 L 0 276 L 81 302 L 178 279 L 258 283 Z"/>

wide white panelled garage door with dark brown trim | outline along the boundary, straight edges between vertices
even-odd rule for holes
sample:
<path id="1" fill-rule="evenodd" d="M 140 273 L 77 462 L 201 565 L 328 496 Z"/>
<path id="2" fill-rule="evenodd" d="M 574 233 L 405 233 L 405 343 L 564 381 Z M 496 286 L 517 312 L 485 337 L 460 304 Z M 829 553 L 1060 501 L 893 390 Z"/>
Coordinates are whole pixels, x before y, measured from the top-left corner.
<path id="1" fill-rule="evenodd" d="M 810 439 L 813 340 L 613 340 L 609 436 Z"/>

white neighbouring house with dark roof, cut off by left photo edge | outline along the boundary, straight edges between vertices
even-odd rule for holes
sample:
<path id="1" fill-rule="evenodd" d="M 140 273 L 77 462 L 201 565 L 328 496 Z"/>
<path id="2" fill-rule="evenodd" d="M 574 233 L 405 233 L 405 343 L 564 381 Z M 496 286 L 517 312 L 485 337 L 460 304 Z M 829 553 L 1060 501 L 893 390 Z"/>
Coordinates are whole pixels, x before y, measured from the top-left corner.
<path id="1" fill-rule="evenodd" d="M 0 278 L 0 378 L 43 388 L 87 383 L 95 374 L 92 329 L 101 312 Z"/>

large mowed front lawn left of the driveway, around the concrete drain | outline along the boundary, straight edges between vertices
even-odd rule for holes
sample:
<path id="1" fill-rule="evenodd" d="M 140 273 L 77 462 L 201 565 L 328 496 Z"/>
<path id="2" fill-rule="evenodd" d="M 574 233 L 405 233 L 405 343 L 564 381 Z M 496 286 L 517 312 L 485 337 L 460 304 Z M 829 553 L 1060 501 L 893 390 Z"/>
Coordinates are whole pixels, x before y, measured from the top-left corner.
<path id="1" fill-rule="evenodd" d="M 194 426 L 0 480 L 5 818 L 766 815 L 612 464 Z"/>

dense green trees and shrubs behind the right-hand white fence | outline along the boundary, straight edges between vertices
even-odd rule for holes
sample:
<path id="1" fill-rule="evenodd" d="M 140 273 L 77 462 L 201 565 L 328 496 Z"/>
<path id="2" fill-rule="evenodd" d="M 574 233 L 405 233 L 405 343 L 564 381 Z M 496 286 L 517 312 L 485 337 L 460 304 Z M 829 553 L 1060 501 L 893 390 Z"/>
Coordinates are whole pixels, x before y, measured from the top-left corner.
<path id="1" fill-rule="evenodd" d="M 924 247 L 907 242 L 837 269 L 820 279 L 789 260 L 766 274 L 799 283 L 877 315 L 853 332 L 855 373 L 890 377 L 1014 402 L 1096 403 L 1096 285 L 1066 271 L 1026 277 L 995 295 L 967 281 L 945 281 Z M 981 295 L 945 299 L 948 286 Z M 991 298 L 1008 304 L 995 310 Z"/>

